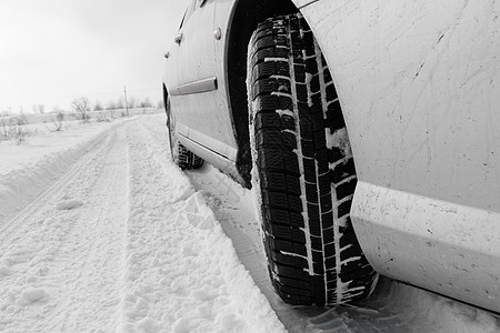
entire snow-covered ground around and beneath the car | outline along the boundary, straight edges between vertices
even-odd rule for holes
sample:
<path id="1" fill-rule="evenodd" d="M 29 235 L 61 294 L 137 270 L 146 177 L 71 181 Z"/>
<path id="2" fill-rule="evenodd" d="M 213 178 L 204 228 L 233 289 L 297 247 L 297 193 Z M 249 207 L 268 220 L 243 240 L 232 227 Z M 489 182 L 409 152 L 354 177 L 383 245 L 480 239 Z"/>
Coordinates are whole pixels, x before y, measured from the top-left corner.
<path id="1" fill-rule="evenodd" d="M 500 332 L 382 279 L 356 306 L 270 286 L 250 192 L 171 161 L 164 114 L 0 143 L 0 332 Z"/>

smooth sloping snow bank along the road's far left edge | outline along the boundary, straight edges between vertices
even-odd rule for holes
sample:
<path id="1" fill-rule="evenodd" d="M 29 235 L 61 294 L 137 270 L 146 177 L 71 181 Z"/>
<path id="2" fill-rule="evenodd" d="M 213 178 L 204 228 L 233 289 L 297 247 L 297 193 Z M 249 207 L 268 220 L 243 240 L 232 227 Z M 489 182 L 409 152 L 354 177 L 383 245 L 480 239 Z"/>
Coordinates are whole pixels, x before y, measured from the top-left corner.
<path id="1" fill-rule="evenodd" d="M 123 121 L 79 124 L 30 138 L 21 145 L 0 143 L 0 221 L 24 208 Z"/>

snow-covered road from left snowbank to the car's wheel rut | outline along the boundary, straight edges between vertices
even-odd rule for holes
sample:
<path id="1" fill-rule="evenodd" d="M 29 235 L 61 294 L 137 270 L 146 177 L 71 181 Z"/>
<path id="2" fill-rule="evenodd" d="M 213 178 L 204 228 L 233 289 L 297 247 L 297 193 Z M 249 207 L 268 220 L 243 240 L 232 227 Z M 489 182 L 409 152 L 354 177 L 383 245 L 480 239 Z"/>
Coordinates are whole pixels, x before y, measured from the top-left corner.
<path id="1" fill-rule="evenodd" d="M 170 161 L 162 120 L 109 127 L 34 198 L 12 172 L 50 179 L 54 154 L 2 170 L 0 331 L 284 332 Z"/>

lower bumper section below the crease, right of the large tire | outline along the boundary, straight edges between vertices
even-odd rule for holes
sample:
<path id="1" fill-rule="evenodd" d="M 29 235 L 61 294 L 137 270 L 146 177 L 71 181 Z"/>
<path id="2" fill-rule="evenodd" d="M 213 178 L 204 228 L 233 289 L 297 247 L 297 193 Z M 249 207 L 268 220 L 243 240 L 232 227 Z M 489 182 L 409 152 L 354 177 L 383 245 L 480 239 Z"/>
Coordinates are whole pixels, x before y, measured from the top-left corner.
<path id="1" fill-rule="evenodd" d="M 500 213 L 359 182 L 351 216 L 381 274 L 500 312 Z"/>

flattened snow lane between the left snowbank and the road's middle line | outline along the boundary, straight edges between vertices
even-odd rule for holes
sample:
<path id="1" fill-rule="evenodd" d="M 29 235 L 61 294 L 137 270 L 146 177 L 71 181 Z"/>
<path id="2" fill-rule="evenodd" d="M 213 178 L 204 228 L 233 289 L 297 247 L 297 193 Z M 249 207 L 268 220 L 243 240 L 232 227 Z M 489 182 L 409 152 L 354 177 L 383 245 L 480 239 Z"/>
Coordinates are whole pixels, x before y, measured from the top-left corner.
<path id="1" fill-rule="evenodd" d="M 0 245 L 8 270 L 0 279 L 0 326 L 77 332 L 116 325 L 128 214 L 124 127 L 9 222 Z"/>

